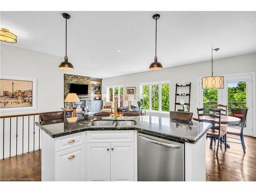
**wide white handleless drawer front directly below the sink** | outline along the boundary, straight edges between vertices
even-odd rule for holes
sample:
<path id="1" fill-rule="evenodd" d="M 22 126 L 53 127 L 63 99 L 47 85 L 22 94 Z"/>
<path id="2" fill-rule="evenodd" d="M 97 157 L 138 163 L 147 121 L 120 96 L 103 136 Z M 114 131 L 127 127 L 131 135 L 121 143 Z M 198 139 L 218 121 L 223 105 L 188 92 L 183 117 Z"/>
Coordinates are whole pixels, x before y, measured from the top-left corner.
<path id="1" fill-rule="evenodd" d="M 87 142 L 134 142 L 134 131 L 88 131 Z"/>

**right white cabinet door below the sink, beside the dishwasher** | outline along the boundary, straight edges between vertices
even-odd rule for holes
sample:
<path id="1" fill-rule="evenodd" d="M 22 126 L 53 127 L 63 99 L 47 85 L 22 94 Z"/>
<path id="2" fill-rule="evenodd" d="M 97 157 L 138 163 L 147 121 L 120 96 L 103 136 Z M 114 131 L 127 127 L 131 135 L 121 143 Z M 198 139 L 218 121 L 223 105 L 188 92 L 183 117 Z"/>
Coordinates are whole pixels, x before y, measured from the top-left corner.
<path id="1" fill-rule="evenodd" d="M 134 143 L 111 143 L 111 181 L 134 181 Z"/>

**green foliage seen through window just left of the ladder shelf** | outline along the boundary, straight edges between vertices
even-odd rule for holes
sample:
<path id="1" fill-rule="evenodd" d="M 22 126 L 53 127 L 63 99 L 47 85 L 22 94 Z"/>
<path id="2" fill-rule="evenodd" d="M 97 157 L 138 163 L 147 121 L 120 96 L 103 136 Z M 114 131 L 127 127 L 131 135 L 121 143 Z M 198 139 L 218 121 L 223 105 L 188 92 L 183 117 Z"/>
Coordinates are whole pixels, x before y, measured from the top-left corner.
<path id="1" fill-rule="evenodd" d="M 161 86 L 161 95 L 159 94 L 159 87 Z M 142 92 L 144 95 L 143 108 L 150 109 L 150 89 L 151 89 L 151 110 L 152 111 L 169 111 L 169 84 L 155 84 L 152 86 L 142 86 Z M 159 101 L 162 105 L 159 109 Z"/>

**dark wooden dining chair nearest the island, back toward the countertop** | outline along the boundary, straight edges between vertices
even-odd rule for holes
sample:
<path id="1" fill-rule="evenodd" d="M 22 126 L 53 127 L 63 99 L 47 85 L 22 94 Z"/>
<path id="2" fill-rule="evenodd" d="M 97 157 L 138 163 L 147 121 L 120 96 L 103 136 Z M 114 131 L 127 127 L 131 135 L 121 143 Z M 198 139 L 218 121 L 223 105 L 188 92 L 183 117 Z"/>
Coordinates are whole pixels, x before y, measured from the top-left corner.
<path id="1" fill-rule="evenodd" d="M 206 112 L 206 113 L 205 113 Z M 225 144 L 225 151 L 227 151 L 227 132 L 221 130 L 221 110 L 220 109 L 211 109 L 211 108 L 197 108 L 198 121 L 211 123 L 212 127 L 207 131 L 206 136 L 212 139 L 218 139 L 216 156 L 218 156 L 219 147 L 222 147 L 222 144 Z M 206 116 L 208 118 L 202 118 Z M 201 117 L 201 118 L 200 118 Z"/>

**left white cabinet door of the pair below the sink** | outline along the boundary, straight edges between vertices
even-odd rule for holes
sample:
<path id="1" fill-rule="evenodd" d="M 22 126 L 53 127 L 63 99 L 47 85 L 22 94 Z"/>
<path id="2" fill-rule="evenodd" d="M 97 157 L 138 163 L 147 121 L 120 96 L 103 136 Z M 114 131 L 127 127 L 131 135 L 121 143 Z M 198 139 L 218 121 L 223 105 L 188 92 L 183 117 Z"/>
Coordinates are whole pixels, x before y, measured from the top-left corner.
<path id="1" fill-rule="evenodd" d="M 87 181 L 110 181 L 110 143 L 87 144 Z"/>

